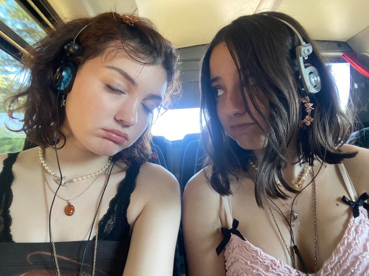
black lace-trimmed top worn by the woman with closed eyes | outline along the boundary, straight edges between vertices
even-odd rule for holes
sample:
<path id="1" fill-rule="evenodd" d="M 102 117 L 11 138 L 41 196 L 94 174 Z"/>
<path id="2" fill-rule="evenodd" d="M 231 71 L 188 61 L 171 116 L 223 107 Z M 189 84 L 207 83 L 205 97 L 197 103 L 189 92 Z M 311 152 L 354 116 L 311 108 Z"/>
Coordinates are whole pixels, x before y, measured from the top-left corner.
<path id="1" fill-rule="evenodd" d="M 14 180 L 12 166 L 17 156 L 18 153 L 9 154 L 0 173 L 0 274 L 53 274 L 49 242 L 14 242 L 10 232 L 12 217 L 9 208 L 13 200 L 11 186 Z M 108 211 L 99 222 L 95 275 L 123 273 L 130 243 L 127 208 L 139 168 L 140 165 L 134 164 L 127 169 L 116 195 L 110 200 Z M 63 275 L 76 275 L 79 271 L 86 242 L 55 242 Z M 89 275 L 92 271 L 94 241 L 87 243 L 81 275 Z"/>

